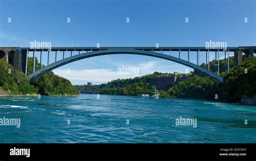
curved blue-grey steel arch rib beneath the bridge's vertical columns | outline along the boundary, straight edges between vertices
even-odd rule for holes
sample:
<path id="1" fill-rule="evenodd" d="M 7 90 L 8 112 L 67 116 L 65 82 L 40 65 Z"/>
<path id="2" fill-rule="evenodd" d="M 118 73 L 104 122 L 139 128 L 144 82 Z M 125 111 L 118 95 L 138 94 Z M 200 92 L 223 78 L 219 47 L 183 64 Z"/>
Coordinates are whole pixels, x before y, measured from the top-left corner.
<path id="1" fill-rule="evenodd" d="M 98 57 L 100 55 L 111 55 L 111 54 L 137 54 L 137 55 L 146 55 L 146 56 L 150 56 L 150 57 L 156 57 L 156 58 L 161 58 L 161 59 L 165 59 L 165 60 L 170 60 L 170 61 L 174 61 L 179 64 L 182 64 L 182 65 L 185 65 L 187 67 L 197 69 L 201 73 L 204 73 L 221 83 L 224 82 L 223 78 L 221 76 L 214 74 L 213 72 L 210 72 L 207 69 L 200 67 L 199 65 L 193 64 L 189 61 L 179 59 L 176 57 L 172 57 L 170 55 L 157 53 L 154 51 L 135 50 L 135 49 L 130 49 L 130 48 L 112 48 L 112 49 L 107 49 L 107 50 L 92 51 L 92 52 L 88 52 L 88 53 L 74 55 L 72 57 L 65 58 L 65 59 L 56 61 L 48 66 L 45 66 L 45 67 L 39 69 L 38 71 L 30 74 L 29 77 L 30 77 L 30 80 L 33 81 L 36 78 L 38 78 L 39 76 L 41 76 L 49 71 L 52 71 L 53 69 L 56 69 L 60 66 L 69 64 L 70 62 L 74 62 L 74 61 L 82 60 L 82 59 L 86 59 L 86 58 L 91 58 L 91 57 Z"/>

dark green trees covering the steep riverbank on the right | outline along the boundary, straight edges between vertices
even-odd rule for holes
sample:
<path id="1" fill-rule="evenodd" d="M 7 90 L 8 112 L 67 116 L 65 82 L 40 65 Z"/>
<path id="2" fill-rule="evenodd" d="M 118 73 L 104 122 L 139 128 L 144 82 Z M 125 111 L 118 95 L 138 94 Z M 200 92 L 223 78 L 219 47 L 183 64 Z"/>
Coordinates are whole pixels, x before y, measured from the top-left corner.
<path id="1" fill-rule="evenodd" d="M 247 73 L 246 73 L 247 69 Z M 218 94 L 220 101 L 240 102 L 242 95 L 256 95 L 256 58 L 243 58 L 242 65 L 230 68 L 230 73 L 220 74 L 224 77 L 224 85 L 210 79 L 194 75 L 187 81 L 168 90 L 171 97 L 214 100 Z"/>

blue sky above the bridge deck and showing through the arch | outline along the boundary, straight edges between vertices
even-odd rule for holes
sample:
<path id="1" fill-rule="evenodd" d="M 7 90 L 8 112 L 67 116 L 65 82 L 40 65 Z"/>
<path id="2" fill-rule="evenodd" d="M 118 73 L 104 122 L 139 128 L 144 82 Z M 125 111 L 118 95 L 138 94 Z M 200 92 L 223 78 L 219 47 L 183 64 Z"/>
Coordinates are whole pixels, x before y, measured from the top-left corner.
<path id="1" fill-rule="evenodd" d="M 29 47 L 51 41 L 72 46 L 256 45 L 256 1 L 5 1 L 0 0 L 0 46 Z M 126 23 L 126 18 L 130 22 Z M 185 23 L 185 18 L 188 23 Z M 11 23 L 8 23 L 11 18 Z M 67 23 L 67 18 L 71 22 Z M 245 18 L 248 22 L 245 23 Z M 15 42 L 16 41 L 16 42 Z M 177 54 L 177 53 L 176 53 Z M 186 58 L 181 53 L 181 58 Z M 192 53 L 193 54 L 193 53 Z M 195 53 L 194 53 L 195 54 Z M 224 54 L 221 53 L 220 57 Z M 211 54 L 211 59 L 214 53 Z M 46 58 L 44 58 L 46 60 Z M 205 55 L 201 54 L 201 62 Z M 192 58 L 192 62 L 196 62 Z M 117 75 L 118 67 L 138 67 L 139 75 L 191 71 L 175 62 L 140 55 L 105 55 L 72 62 L 53 72 L 73 84 L 102 83 L 135 75 Z M 70 72 L 67 72 L 70 70 Z"/>

